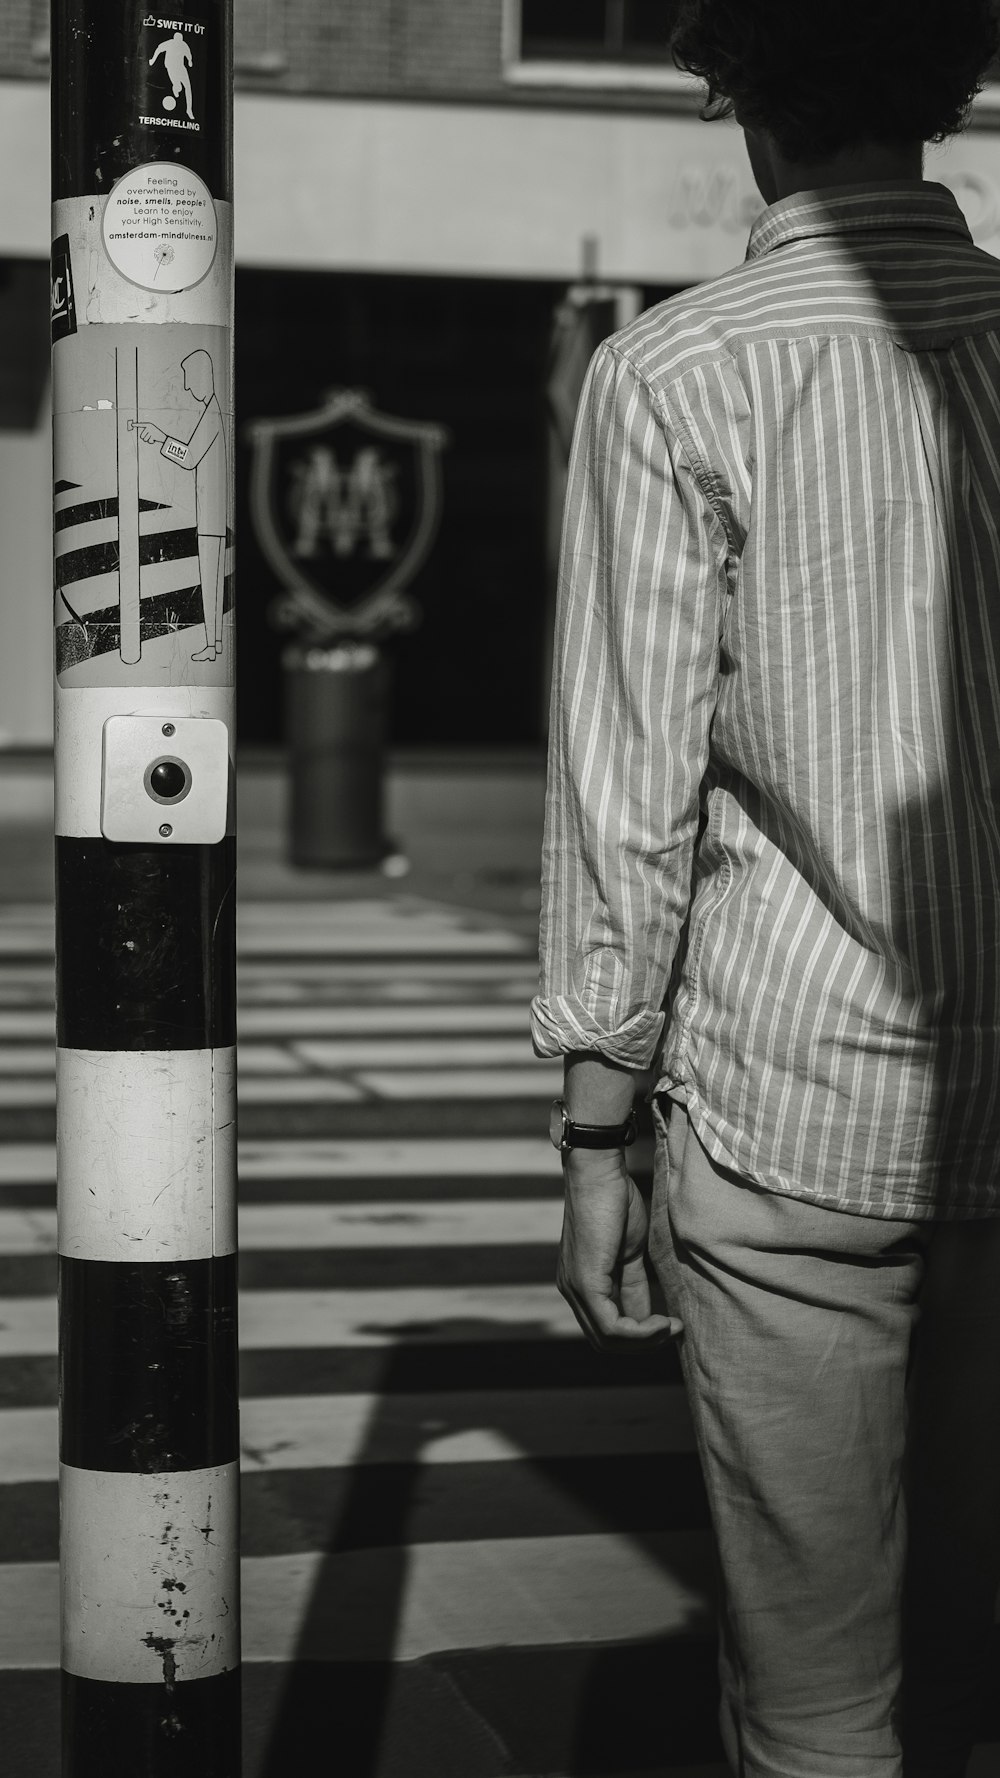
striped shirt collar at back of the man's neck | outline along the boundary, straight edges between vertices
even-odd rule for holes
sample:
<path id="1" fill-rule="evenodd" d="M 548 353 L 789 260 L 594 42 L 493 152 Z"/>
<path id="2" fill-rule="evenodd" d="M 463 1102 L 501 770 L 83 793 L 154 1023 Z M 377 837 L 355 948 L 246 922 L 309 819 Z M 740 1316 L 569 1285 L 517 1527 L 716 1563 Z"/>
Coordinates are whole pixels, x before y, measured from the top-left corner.
<path id="1" fill-rule="evenodd" d="M 747 260 L 772 247 L 817 235 L 884 235 L 893 229 L 943 229 L 972 242 L 957 197 L 934 180 L 891 180 L 872 185 L 829 185 L 792 192 L 762 210 L 751 228 Z"/>

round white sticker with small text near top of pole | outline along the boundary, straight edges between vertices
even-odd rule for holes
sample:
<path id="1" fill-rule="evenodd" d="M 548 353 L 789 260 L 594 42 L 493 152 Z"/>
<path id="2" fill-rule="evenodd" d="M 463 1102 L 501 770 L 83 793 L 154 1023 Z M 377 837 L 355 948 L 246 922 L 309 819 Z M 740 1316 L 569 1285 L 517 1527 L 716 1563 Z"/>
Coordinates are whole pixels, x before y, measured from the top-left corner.
<path id="1" fill-rule="evenodd" d="M 114 187 L 101 235 L 110 263 L 142 290 L 190 290 L 212 270 L 219 229 L 205 180 L 151 160 Z"/>

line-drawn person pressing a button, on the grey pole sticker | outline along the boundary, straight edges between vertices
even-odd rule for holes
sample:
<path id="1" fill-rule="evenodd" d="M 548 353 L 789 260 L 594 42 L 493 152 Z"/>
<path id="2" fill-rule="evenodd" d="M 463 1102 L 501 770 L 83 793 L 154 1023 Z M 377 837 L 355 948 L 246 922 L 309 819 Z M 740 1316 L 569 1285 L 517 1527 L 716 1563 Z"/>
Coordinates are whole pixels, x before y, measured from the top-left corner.
<path id="1" fill-rule="evenodd" d="M 194 471 L 194 505 L 198 521 L 198 567 L 201 574 L 201 610 L 205 613 L 205 647 L 196 649 L 192 661 L 214 661 L 224 647 L 222 615 L 226 594 L 226 514 L 230 505 L 230 471 L 226 464 L 226 425 L 215 395 L 215 368 L 201 347 L 181 359 L 183 386 L 201 414 L 187 439 L 174 439 L 151 420 L 142 420 L 139 437 L 144 444 L 158 444 L 160 457 L 176 462 L 180 469 Z"/>

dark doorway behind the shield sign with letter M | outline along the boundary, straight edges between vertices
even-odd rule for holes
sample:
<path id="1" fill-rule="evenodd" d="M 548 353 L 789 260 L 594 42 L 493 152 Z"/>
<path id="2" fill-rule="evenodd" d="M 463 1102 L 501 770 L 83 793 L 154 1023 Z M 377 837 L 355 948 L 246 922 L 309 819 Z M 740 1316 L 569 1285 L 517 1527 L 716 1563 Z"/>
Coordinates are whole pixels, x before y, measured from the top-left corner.
<path id="1" fill-rule="evenodd" d="M 543 672 L 546 409 L 562 286 L 505 279 L 237 272 L 240 740 L 281 740 L 279 592 L 251 519 L 249 423 L 335 388 L 448 432 L 443 517 L 413 581 L 423 622 L 393 645 L 391 740 L 530 745 Z"/>

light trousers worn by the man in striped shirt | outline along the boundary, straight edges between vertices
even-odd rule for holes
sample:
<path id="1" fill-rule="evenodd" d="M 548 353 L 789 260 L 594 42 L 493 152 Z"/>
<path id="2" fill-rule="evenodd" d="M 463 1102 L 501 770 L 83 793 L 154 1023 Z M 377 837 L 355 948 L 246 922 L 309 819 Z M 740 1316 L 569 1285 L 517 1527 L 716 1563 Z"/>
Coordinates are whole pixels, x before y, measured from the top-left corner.
<path id="1" fill-rule="evenodd" d="M 738 1778 L 963 1778 L 1000 1584 L 1000 1220 L 714 1163 L 657 1101 L 649 1255 L 719 1559 Z"/>

